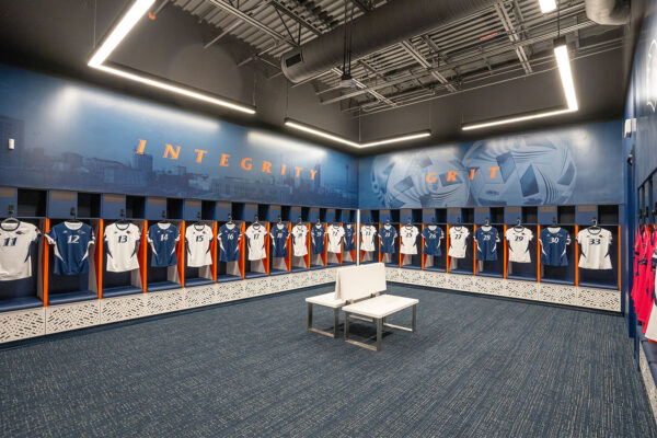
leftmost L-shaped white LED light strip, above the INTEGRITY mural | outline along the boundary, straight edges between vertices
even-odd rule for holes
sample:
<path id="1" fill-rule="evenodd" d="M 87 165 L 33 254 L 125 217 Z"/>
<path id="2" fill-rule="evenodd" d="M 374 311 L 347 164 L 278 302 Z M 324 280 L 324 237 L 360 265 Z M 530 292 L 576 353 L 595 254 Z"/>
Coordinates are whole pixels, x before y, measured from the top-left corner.
<path id="1" fill-rule="evenodd" d="M 246 114 L 255 114 L 255 110 L 249 106 L 239 105 L 232 102 L 224 101 L 222 99 L 212 97 L 207 94 L 197 93 L 192 90 L 187 90 L 181 87 L 172 85 L 170 83 L 158 81 L 154 79 L 149 79 L 139 74 L 130 73 L 127 71 L 123 71 L 113 67 L 104 66 L 103 62 L 107 59 L 107 57 L 114 51 L 116 47 L 120 44 L 120 42 L 128 35 L 128 33 L 135 27 L 135 25 L 139 22 L 139 20 L 148 12 L 148 10 L 153 5 L 155 0 L 137 0 L 128 12 L 120 19 L 116 27 L 112 30 L 107 38 L 103 42 L 101 47 L 93 54 L 91 59 L 88 62 L 89 67 L 94 69 L 104 71 L 106 73 L 115 74 L 125 79 L 129 79 L 135 82 L 143 83 L 145 85 L 154 87 L 161 90 L 166 90 L 172 93 L 182 94 L 188 97 L 193 97 L 199 101 L 208 102 L 215 105 L 223 106 L 227 108 L 231 108 L 234 111 L 239 111 Z"/>

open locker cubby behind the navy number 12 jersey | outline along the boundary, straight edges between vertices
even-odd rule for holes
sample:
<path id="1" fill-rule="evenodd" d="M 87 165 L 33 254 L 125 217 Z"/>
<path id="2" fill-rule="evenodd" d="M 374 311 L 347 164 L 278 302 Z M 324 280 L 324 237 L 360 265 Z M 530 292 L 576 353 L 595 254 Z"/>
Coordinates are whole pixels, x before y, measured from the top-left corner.
<path id="1" fill-rule="evenodd" d="M 50 220 L 50 229 L 66 220 Z M 80 222 L 91 226 L 94 237 L 99 235 L 99 221 L 83 219 Z M 47 244 L 47 243 L 45 243 Z M 79 275 L 55 274 L 55 245 L 49 245 L 48 256 L 48 304 L 67 304 L 71 302 L 96 300 L 99 298 L 95 281 L 95 251 L 97 240 L 89 246 L 89 273 Z"/>

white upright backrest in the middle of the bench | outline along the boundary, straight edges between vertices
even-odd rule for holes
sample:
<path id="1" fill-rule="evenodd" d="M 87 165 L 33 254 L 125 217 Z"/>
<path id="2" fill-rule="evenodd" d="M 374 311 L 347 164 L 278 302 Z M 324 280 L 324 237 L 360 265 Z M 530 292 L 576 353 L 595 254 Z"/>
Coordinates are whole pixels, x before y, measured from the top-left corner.
<path id="1" fill-rule="evenodd" d="M 335 279 L 335 298 L 346 301 L 385 291 L 385 265 L 372 263 L 343 267 Z"/>

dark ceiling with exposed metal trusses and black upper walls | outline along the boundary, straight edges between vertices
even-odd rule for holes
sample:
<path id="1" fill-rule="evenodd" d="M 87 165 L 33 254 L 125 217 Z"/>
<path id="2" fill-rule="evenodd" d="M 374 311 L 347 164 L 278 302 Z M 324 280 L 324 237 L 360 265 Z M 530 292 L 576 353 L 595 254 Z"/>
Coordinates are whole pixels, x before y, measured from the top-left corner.
<path id="1" fill-rule="evenodd" d="M 255 104 L 256 116 L 235 115 L 89 69 L 87 61 L 94 47 L 131 3 L 129 0 L 4 1 L 0 10 L 2 60 L 295 136 L 296 132 L 283 127 L 285 117 L 361 141 L 430 128 L 433 137 L 422 145 L 437 145 L 620 118 L 623 114 L 624 28 L 589 22 L 581 0 L 561 1 L 561 27 L 569 30 L 566 35 L 579 112 L 471 132 L 463 132 L 462 124 L 563 105 L 551 56 L 556 16 L 541 14 L 538 0 L 502 0 L 481 16 L 417 35 L 407 44 L 359 60 L 353 73 L 362 88 L 349 97 L 343 97 L 345 92 L 336 89 L 335 73 L 328 72 L 301 85 L 288 82 L 277 60 L 286 48 L 277 45 L 275 49 L 265 50 L 264 47 L 273 47 L 270 37 L 237 15 L 217 10 L 214 4 L 217 1 L 223 0 L 160 0 L 153 10 L 154 20 L 142 20 L 111 60 L 208 93 Z M 285 32 L 286 26 L 302 27 L 301 42 L 339 25 L 336 11 L 344 4 L 343 0 L 314 2 L 320 10 L 308 9 L 304 3 L 300 0 L 233 2 L 235 8 L 250 11 L 254 20 L 276 32 Z M 357 15 L 383 2 L 358 3 L 362 4 Z M 291 13 L 277 12 L 281 7 Z M 316 26 L 316 32 L 299 24 L 295 14 Z M 518 35 L 521 43 L 511 35 Z M 436 47 L 445 47 L 447 55 L 433 53 Z M 445 56 L 452 60 L 445 61 Z M 440 74 L 435 76 L 429 70 Z M 449 81 L 458 77 L 458 85 L 447 87 L 441 77 Z M 377 93 L 385 99 L 377 97 Z M 355 150 L 334 143 L 327 146 L 353 154 L 410 147 Z"/>

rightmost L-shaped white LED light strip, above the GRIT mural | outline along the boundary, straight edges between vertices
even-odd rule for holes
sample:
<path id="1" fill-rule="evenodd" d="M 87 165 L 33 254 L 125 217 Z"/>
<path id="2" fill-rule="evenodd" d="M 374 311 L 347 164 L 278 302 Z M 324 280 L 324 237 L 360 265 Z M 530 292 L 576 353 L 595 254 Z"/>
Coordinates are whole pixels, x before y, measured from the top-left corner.
<path id="1" fill-rule="evenodd" d="M 502 118 L 498 120 L 483 122 L 472 125 L 464 125 L 461 129 L 473 130 L 488 128 L 492 126 L 508 125 L 519 122 L 533 120 L 537 118 L 554 117 L 562 114 L 575 113 L 579 106 L 577 105 L 577 94 L 575 93 L 575 82 L 573 81 L 573 71 L 570 70 L 570 59 L 568 58 L 568 47 L 564 38 L 557 39 L 554 47 L 554 57 L 562 80 L 562 87 L 566 96 L 567 107 L 564 110 L 548 111 L 538 114 L 528 114 L 525 116 Z"/>

